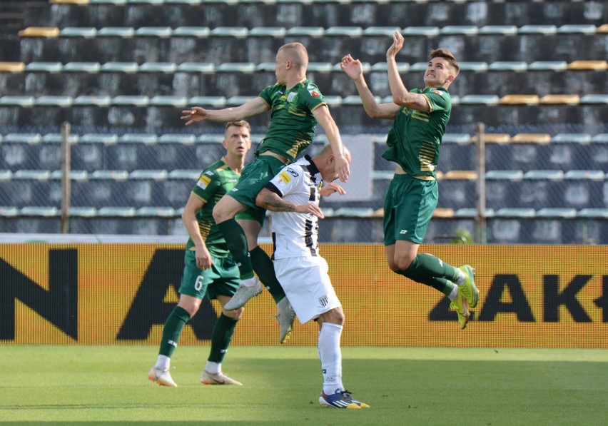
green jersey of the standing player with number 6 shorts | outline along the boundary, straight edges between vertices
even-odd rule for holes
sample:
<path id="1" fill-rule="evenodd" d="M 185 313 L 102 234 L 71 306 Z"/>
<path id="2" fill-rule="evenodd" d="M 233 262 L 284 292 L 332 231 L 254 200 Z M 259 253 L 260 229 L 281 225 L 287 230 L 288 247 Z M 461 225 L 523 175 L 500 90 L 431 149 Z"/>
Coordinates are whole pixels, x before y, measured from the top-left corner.
<path id="1" fill-rule="evenodd" d="M 216 203 L 220 201 L 224 194 L 236 185 L 238 178 L 240 178 L 240 175 L 228 167 L 228 164 L 222 158 L 203 170 L 198 182 L 192 189 L 195 196 L 205 201 L 201 210 L 196 212 L 198 229 L 201 230 L 201 236 L 209 253 L 218 258 L 225 258 L 230 252 L 226 240 L 218 229 L 215 220 L 213 220 L 213 207 L 216 206 Z M 192 238 L 188 238 L 186 250 L 193 250 L 193 247 Z"/>

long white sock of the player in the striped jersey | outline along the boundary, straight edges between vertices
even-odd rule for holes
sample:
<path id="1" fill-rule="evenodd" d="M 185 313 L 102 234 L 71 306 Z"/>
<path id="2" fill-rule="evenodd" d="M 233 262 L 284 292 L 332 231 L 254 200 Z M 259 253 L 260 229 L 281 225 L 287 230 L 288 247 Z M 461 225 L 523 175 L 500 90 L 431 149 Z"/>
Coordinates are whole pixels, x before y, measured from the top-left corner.
<path id="1" fill-rule="evenodd" d="M 323 370 L 323 392 L 333 395 L 336 390 L 343 390 L 342 385 L 342 351 L 340 335 L 342 325 L 323 323 L 319 332 L 318 350 Z"/>

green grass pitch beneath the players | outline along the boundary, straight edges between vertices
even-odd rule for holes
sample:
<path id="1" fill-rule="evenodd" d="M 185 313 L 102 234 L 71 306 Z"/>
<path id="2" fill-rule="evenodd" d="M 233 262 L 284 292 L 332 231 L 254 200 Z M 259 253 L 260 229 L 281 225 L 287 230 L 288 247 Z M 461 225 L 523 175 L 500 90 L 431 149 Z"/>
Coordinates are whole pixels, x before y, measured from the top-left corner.
<path id="1" fill-rule="evenodd" d="M 0 422 L 180 425 L 606 425 L 608 350 L 343 348 L 343 381 L 371 407 L 320 407 L 316 348 L 180 347 L 179 387 L 148 381 L 153 346 L 0 345 Z"/>

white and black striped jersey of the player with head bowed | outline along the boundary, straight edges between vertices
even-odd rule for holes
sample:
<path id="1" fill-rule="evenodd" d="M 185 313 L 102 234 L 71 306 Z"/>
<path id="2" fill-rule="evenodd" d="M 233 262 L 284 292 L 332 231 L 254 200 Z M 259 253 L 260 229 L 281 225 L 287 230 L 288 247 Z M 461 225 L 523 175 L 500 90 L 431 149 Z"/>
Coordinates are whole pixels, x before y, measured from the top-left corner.
<path id="1" fill-rule="evenodd" d="M 296 204 L 319 204 L 322 183 L 312 159 L 305 155 L 285 166 L 267 185 L 270 191 Z M 311 213 L 273 211 L 274 259 L 318 256 L 318 218 Z"/>

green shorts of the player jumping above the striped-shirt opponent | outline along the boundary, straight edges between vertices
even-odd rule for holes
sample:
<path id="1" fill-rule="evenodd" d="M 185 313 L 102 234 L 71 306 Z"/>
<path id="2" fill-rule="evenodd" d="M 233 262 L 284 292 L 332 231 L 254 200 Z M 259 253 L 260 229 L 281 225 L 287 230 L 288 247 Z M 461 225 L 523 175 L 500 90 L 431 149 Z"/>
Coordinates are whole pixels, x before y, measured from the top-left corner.
<path id="1" fill-rule="evenodd" d="M 247 211 L 238 213 L 236 219 L 252 219 L 258 220 L 261 224 L 264 223 L 266 210 L 255 206 L 255 197 L 283 167 L 285 167 L 285 164 L 278 158 L 258 156 L 243 168 L 238 183 L 228 191 L 230 197 L 249 207 Z"/>

